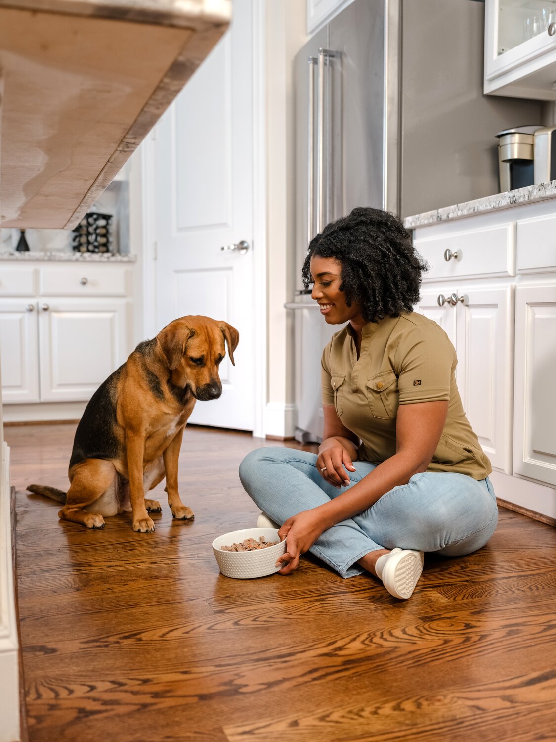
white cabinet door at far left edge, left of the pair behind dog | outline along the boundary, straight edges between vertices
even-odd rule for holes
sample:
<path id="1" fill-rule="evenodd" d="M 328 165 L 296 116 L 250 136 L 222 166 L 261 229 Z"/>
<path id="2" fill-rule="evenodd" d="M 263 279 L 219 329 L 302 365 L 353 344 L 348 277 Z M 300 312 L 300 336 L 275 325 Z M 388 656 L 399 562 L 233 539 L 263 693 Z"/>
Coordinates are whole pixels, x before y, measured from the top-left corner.
<path id="1" fill-rule="evenodd" d="M 0 344 L 4 404 L 39 401 L 35 302 L 0 301 Z"/>

